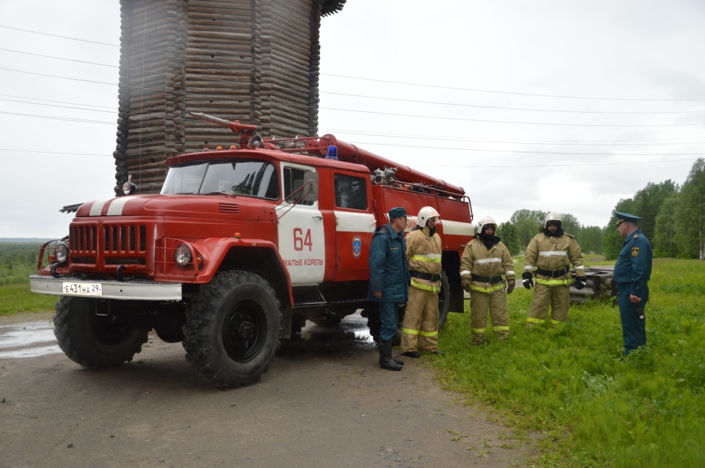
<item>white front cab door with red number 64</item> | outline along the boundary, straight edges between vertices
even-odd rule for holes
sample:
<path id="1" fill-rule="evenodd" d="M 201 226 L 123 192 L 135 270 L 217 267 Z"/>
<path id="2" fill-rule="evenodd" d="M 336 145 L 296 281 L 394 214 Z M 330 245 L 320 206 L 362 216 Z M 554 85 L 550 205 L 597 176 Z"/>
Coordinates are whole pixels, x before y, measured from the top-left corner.
<path id="1" fill-rule="evenodd" d="M 318 201 L 304 201 L 305 172 L 315 167 L 282 163 L 283 201 L 276 207 L 279 254 L 292 286 L 320 284 L 326 272 L 323 215 Z"/>

